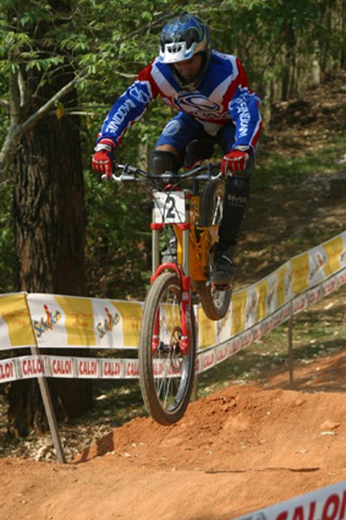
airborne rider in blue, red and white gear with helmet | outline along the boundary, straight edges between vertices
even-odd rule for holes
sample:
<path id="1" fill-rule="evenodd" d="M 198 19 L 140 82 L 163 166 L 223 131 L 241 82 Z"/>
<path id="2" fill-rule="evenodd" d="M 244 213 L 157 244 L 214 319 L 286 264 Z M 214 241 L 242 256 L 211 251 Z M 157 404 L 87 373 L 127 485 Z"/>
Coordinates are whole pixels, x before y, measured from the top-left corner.
<path id="1" fill-rule="evenodd" d="M 158 57 L 140 71 L 105 118 L 92 159 L 94 170 L 111 171 L 123 134 L 158 95 L 178 114 L 167 123 L 151 153 L 153 173 L 176 171 L 184 161 L 191 166 L 187 147 L 196 140 L 205 140 L 202 147 L 206 140 L 217 143 L 224 152 L 224 213 L 210 281 L 228 286 L 233 281 L 233 257 L 262 127 L 260 98 L 248 88 L 239 58 L 213 50 L 208 26 L 199 17 L 183 12 L 165 24 Z M 195 159 L 199 158 L 197 145 Z M 163 262 L 174 245 L 176 251 L 176 244 L 171 243 L 163 252 Z"/>

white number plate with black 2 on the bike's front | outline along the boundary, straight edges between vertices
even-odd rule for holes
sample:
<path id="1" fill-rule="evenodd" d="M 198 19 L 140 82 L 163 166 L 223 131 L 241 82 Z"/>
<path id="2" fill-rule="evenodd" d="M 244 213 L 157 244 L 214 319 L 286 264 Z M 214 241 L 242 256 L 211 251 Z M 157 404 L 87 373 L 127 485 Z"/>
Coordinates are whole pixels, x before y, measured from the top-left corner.
<path id="1" fill-rule="evenodd" d="M 186 222 L 183 192 L 157 192 L 154 194 L 154 222 L 157 224 L 181 224 Z"/>

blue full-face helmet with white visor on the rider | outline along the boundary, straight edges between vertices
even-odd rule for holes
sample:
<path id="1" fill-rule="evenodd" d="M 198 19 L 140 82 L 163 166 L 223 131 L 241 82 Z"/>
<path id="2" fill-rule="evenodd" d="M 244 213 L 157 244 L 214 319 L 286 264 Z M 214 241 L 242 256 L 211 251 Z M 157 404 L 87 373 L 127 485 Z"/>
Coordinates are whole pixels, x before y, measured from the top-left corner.
<path id="1" fill-rule="evenodd" d="M 199 17 L 190 15 L 188 12 L 183 12 L 182 15 L 168 21 L 161 31 L 159 60 L 171 65 L 172 73 L 181 87 L 197 87 L 206 73 L 211 52 L 208 27 Z M 199 53 L 202 57 L 201 69 L 192 80 L 184 80 L 172 65 L 183 60 L 190 60 Z"/>

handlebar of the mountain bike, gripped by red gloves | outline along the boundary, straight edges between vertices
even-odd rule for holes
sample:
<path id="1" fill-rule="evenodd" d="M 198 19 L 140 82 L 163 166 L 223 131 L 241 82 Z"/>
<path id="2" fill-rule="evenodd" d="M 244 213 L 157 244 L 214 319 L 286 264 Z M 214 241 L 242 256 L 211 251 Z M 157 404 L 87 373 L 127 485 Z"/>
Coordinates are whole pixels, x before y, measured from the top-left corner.
<path id="1" fill-rule="evenodd" d="M 116 170 L 121 170 L 119 175 L 115 174 Z M 213 172 L 217 170 L 217 174 L 213 175 Z M 101 179 L 107 181 L 143 181 L 149 179 L 153 181 L 165 181 L 165 182 L 176 182 L 183 181 L 190 177 L 194 177 L 196 181 L 210 181 L 212 179 L 219 179 L 221 177 L 221 163 L 208 163 L 192 168 L 185 173 L 176 172 L 165 172 L 163 174 L 153 174 L 140 170 L 130 164 L 117 164 L 113 170 L 113 173 L 103 174 Z"/>

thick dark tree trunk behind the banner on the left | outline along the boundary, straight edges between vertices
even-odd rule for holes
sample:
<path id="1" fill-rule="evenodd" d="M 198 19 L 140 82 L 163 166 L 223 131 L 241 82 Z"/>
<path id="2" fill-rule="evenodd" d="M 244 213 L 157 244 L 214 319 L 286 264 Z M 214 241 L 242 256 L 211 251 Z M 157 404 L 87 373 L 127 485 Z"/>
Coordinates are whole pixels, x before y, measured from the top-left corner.
<path id="1" fill-rule="evenodd" d="M 72 73 L 65 66 L 43 86 L 39 86 L 42 73 L 26 73 L 28 103 L 23 116 L 51 98 L 71 80 Z M 64 99 L 73 107 L 77 102 L 75 91 Z M 55 114 L 42 118 L 24 134 L 15 157 L 14 219 L 21 291 L 84 294 L 85 214 L 78 123 L 66 116 L 58 119 Z M 53 354 L 53 350 L 46 353 Z M 48 384 L 57 418 L 71 418 L 91 408 L 91 382 L 48 379 Z M 8 431 L 12 436 L 25 436 L 33 427 L 46 429 L 35 379 L 13 382 L 9 400 Z"/>

